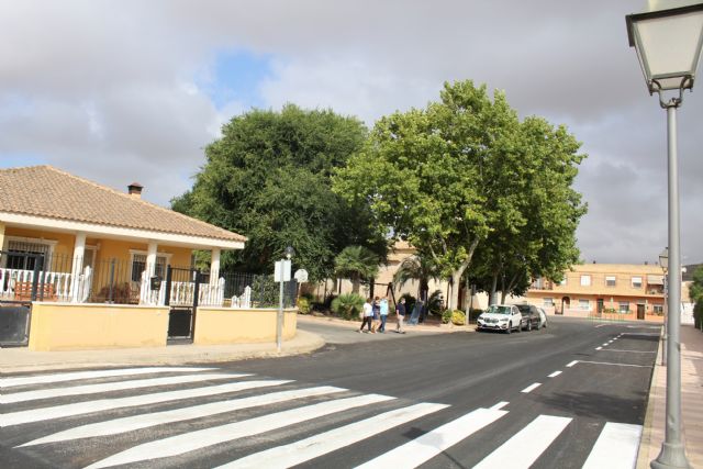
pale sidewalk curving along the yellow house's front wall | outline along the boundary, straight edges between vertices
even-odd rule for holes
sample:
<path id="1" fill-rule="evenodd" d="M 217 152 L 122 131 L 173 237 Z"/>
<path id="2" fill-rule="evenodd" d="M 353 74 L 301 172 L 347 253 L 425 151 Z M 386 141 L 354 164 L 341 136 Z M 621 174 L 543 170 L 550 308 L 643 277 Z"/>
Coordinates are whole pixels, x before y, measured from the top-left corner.
<path id="1" fill-rule="evenodd" d="M 272 342 L 209 346 L 188 344 L 70 351 L 31 351 L 26 347 L 11 347 L 0 348 L 0 371 L 8 373 L 133 365 L 216 362 L 305 354 L 324 345 L 325 342 L 319 335 L 298 330 L 295 338 L 283 342 L 280 354 L 276 349 L 276 343 Z"/>

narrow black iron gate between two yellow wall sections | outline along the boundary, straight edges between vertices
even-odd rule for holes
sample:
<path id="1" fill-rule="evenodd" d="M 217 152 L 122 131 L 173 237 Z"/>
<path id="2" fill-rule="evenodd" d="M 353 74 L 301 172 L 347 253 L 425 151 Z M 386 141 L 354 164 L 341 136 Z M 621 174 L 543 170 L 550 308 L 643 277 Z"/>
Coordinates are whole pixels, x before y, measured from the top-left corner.
<path id="1" fill-rule="evenodd" d="M 197 269 L 168 267 L 166 270 L 166 305 L 168 343 L 192 342 L 202 273 Z"/>

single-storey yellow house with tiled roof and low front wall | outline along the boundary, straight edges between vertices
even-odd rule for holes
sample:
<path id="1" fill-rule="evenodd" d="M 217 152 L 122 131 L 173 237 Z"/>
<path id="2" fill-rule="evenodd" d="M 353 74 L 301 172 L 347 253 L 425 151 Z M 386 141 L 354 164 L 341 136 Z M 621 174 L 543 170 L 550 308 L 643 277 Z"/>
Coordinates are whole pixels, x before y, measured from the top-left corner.
<path id="1" fill-rule="evenodd" d="M 51 166 L 0 169 L 0 345 L 21 343 L 13 334 L 31 347 L 53 336 L 36 349 L 83 348 L 90 335 L 97 347 L 165 344 L 175 328 L 196 328 L 194 314 L 175 324 L 175 304 L 225 305 L 221 254 L 244 248 L 246 237 L 146 202 L 142 189 L 134 182 L 116 191 Z M 196 250 L 210 252 L 207 275 L 194 269 Z M 18 328 L 18 311 L 31 311 L 31 328 Z M 62 334 L 82 330 L 81 338 L 57 345 L 57 317 L 77 312 L 80 326 L 67 322 Z M 52 331 L 42 315 L 52 316 Z M 96 328 L 86 328 L 91 322 Z M 140 334 L 149 330 L 156 339 Z"/>

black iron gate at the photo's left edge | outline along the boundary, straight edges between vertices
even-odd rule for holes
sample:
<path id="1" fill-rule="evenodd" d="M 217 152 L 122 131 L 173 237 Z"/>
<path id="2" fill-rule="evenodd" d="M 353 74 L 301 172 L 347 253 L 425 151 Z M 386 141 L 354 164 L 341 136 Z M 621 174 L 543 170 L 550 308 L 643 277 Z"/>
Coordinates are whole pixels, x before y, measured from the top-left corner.
<path id="1" fill-rule="evenodd" d="M 44 254 L 0 250 L 0 346 L 30 342 L 32 301 L 44 295 Z"/>

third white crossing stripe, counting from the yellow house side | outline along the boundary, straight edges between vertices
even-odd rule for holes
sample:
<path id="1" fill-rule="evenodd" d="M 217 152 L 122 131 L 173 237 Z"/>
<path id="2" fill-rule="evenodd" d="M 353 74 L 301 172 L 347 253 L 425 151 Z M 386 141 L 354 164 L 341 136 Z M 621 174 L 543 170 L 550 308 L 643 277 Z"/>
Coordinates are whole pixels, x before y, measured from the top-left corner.
<path id="1" fill-rule="evenodd" d="M 2 414 L 2 426 L 21 425 L 74 415 L 104 412 L 114 409 L 148 405 L 159 402 L 177 401 L 181 399 L 202 398 L 205 395 L 224 394 L 247 389 L 266 388 L 291 382 L 290 380 L 239 381 L 226 384 L 209 386 L 204 388 L 182 389 L 179 391 L 154 392 L 150 394 L 132 395 L 129 398 L 100 399 L 98 401 L 77 402 L 75 404 L 55 405 L 52 407 L 32 409 L 27 411 Z"/>

